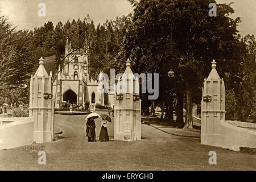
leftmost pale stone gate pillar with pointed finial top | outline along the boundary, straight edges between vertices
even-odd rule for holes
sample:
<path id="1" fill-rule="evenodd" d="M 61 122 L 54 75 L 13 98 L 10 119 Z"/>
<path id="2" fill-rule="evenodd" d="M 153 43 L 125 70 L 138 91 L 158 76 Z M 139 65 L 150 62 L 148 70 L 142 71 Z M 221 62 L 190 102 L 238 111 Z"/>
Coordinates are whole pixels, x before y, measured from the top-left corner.
<path id="1" fill-rule="evenodd" d="M 48 76 L 44 59 L 39 59 L 39 67 L 30 79 L 30 117 L 34 117 L 34 142 L 52 142 L 52 73 Z"/>

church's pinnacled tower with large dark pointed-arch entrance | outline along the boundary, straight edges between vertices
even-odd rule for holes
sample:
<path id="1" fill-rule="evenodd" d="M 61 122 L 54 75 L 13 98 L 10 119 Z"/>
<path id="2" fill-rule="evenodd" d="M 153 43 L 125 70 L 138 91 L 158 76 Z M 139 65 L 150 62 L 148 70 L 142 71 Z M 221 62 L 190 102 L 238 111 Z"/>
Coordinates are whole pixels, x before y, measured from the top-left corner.
<path id="1" fill-rule="evenodd" d="M 67 56 L 67 57 L 66 57 Z M 86 88 L 85 68 L 88 58 L 83 49 L 73 51 L 72 44 L 67 39 L 65 43 L 65 60 L 63 69 L 59 68 L 58 80 L 55 86 L 55 106 L 60 107 L 65 102 L 84 106 Z"/>

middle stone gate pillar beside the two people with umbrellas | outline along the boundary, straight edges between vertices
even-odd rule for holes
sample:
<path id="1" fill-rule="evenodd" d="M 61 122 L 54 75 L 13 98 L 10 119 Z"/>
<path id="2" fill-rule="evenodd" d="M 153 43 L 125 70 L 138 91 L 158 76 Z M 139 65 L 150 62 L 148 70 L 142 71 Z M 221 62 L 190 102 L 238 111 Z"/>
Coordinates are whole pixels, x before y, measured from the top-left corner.
<path id="1" fill-rule="evenodd" d="M 126 70 L 118 79 L 114 99 L 114 140 L 141 140 L 141 100 L 139 82 L 126 61 Z"/>

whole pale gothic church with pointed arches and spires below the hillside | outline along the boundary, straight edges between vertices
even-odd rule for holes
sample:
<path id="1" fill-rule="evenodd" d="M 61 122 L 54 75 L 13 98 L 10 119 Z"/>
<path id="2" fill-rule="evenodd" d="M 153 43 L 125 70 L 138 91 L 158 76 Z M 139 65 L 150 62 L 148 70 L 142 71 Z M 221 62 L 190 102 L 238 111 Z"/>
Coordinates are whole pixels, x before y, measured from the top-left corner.
<path id="1" fill-rule="evenodd" d="M 89 75 L 89 55 L 84 52 L 84 49 L 74 51 L 71 42 L 67 40 L 65 57 L 62 70 L 59 65 L 59 73 L 53 83 L 55 108 L 59 108 L 65 102 L 84 108 L 86 104 L 89 104 L 90 107 L 96 104 L 111 106 L 108 94 L 104 94 L 104 86 L 98 88 L 101 80 L 94 80 Z M 101 79 L 102 76 L 99 78 Z"/>

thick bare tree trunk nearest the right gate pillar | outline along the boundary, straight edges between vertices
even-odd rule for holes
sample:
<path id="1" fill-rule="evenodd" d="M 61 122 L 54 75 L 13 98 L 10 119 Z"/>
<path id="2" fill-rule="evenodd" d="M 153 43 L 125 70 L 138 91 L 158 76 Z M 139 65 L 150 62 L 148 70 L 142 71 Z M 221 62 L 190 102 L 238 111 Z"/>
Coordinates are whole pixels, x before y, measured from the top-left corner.
<path id="1" fill-rule="evenodd" d="M 193 128 L 193 118 L 192 118 L 192 85 L 191 82 L 186 83 L 186 118 L 185 127 L 189 129 Z"/>

